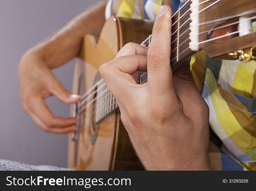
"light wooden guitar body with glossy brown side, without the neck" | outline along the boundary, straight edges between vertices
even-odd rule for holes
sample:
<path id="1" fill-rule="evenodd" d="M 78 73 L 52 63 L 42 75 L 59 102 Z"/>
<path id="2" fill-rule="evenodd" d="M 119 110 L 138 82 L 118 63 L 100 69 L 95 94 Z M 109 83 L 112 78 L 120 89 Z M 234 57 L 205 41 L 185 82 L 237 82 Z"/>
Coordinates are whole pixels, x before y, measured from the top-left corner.
<path id="1" fill-rule="evenodd" d="M 85 94 L 101 79 L 98 71 L 102 64 L 114 59 L 126 43 L 141 43 L 151 31 L 152 23 L 145 20 L 111 17 L 104 24 L 99 38 L 85 35 L 74 69 L 72 92 Z M 97 124 L 93 104 L 83 111 L 72 105 L 70 113 L 79 121 L 79 132 L 76 140 L 74 137 L 72 140 L 72 135 L 69 138 L 69 168 L 143 170 L 121 122 L 119 109 Z"/>

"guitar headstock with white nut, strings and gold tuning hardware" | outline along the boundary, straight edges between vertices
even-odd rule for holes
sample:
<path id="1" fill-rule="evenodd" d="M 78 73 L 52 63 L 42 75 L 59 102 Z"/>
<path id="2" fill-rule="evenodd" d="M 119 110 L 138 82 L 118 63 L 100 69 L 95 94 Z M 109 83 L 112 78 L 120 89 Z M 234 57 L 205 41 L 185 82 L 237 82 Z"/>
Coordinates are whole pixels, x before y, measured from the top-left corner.
<path id="1" fill-rule="evenodd" d="M 256 61 L 255 0 L 191 0 L 189 48 L 210 58 Z"/>

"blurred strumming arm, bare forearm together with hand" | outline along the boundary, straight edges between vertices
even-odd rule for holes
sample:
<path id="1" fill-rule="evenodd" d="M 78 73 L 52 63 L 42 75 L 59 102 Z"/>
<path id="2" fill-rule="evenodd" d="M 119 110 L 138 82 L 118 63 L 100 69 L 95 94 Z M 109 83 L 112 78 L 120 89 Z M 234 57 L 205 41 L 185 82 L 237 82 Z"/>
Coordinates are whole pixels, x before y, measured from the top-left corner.
<path id="1" fill-rule="evenodd" d="M 83 36 L 98 36 L 105 22 L 106 2 L 97 3 L 22 57 L 18 75 L 22 108 L 38 126 L 51 133 L 69 133 L 77 129 L 76 119 L 54 117 L 44 101 L 54 95 L 64 103 L 76 103 L 50 69 L 59 67 L 78 55 Z"/>

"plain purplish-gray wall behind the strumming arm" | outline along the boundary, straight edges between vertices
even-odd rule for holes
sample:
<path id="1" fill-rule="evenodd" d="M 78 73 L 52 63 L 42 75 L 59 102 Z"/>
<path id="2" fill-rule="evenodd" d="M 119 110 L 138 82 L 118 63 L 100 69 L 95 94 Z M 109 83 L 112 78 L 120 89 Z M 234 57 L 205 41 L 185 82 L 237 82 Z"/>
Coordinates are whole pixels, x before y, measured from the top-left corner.
<path id="1" fill-rule="evenodd" d="M 17 67 L 27 49 L 97 1 L 0 0 L 0 158 L 67 166 L 67 135 L 44 133 L 21 109 Z M 74 60 L 54 70 L 68 90 L 73 69 Z M 54 97 L 47 103 L 55 115 L 68 117 L 68 105 Z"/>

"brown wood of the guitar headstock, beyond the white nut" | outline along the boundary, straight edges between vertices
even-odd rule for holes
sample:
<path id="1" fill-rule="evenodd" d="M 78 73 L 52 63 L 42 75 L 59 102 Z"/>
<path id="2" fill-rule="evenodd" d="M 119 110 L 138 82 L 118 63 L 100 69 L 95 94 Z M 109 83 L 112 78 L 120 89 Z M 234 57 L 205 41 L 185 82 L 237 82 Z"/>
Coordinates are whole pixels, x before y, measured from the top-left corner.
<path id="1" fill-rule="evenodd" d="M 200 3 L 204 0 L 200 0 Z M 216 0 L 209 1 L 203 3 L 199 6 L 199 10 L 210 6 L 211 3 L 214 3 Z M 237 14 L 241 14 L 250 10 L 256 9 L 255 0 L 242 0 L 242 1 L 234 1 L 234 0 L 222 0 L 215 3 L 213 6 L 210 6 L 205 11 L 199 13 L 199 23 L 211 21 L 214 19 L 229 17 Z M 250 14 L 249 16 L 255 16 L 256 13 Z M 209 24 L 204 24 L 199 26 L 199 32 L 210 31 L 212 28 L 216 28 L 223 23 L 228 23 L 230 21 L 234 22 L 238 21 L 238 17 L 233 19 L 226 19 L 223 21 L 216 21 Z M 237 30 L 236 27 L 225 27 L 218 29 L 215 31 L 217 33 L 215 37 L 228 34 L 231 32 L 235 32 Z M 221 58 L 221 59 L 233 59 L 232 57 L 227 56 L 228 53 L 241 50 L 248 49 L 256 44 L 256 32 L 252 32 L 246 36 L 239 37 L 237 35 L 233 35 L 233 38 L 222 38 L 220 41 L 210 41 L 203 44 L 199 44 L 200 48 L 204 49 L 207 55 L 210 58 Z M 199 42 L 208 40 L 208 32 L 199 35 Z"/>

